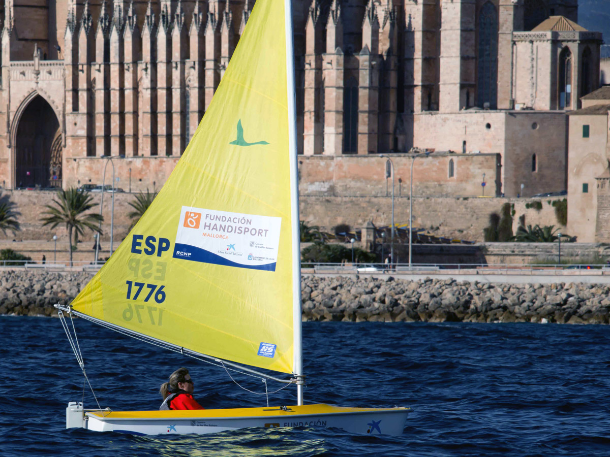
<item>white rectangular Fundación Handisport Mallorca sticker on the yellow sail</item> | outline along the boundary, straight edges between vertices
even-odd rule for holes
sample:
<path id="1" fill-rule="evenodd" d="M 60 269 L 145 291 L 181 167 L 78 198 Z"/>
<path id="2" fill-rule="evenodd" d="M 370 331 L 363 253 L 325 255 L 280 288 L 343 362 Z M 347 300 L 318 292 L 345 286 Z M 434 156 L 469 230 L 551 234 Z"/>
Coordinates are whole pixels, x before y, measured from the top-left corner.
<path id="1" fill-rule="evenodd" d="M 183 206 L 179 221 L 174 258 L 275 271 L 281 218 Z"/>

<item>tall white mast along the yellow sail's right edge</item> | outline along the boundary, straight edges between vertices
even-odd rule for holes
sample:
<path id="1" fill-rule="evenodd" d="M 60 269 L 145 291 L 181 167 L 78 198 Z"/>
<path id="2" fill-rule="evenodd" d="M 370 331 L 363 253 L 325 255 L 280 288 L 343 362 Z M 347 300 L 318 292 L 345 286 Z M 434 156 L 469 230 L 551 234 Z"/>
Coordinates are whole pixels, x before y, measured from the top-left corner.
<path id="1" fill-rule="evenodd" d="M 284 0 L 286 26 L 286 85 L 288 89 L 288 138 L 290 154 L 290 211 L 292 216 L 292 316 L 297 405 L 303 405 L 303 342 L 301 339 L 301 238 L 299 235 L 299 184 L 296 161 L 295 56 L 292 35 L 292 1 Z"/>

